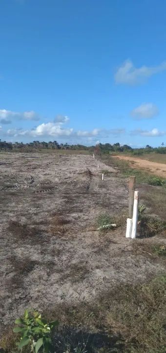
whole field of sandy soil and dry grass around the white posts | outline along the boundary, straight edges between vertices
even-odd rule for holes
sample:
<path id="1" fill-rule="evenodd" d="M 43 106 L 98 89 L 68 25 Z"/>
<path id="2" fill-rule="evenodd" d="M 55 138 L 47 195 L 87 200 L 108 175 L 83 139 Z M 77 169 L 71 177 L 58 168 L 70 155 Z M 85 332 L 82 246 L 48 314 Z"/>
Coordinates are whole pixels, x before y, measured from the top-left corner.
<path id="1" fill-rule="evenodd" d="M 133 171 L 122 161 L 104 157 L 98 170 L 89 155 L 1 153 L 0 162 L 5 353 L 17 352 L 13 322 L 27 307 L 59 319 L 58 353 L 165 353 L 166 188 L 136 172 L 146 212 L 132 241 Z M 108 221 L 117 228 L 96 230 Z"/>

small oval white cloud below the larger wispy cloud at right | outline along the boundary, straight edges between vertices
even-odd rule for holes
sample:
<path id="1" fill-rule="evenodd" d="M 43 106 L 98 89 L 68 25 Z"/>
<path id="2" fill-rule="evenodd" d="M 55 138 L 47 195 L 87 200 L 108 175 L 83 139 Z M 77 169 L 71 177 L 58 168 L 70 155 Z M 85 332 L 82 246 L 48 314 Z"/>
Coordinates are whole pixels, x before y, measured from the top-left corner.
<path id="1" fill-rule="evenodd" d="M 131 116 L 134 119 L 151 119 L 159 114 L 157 106 L 153 103 L 144 103 L 131 111 Z"/>

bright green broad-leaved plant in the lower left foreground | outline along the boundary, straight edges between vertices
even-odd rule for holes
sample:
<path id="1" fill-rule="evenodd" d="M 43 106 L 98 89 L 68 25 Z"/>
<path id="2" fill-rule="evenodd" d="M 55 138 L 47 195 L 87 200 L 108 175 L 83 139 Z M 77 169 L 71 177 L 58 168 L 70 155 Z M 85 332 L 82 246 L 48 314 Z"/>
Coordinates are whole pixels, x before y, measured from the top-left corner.
<path id="1" fill-rule="evenodd" d="M 58 326 L 58 321 L 48 323 L 38 311 L 25 310 L 23 317 L 17 319 L 15 324 L 17 326 L 13 331 L 21 335 L 17 343 L 19 350 L 30 346 L 31 352 L 38 353 L 40 349 L 43 353 L 51 352 L 51 331 Z"/>

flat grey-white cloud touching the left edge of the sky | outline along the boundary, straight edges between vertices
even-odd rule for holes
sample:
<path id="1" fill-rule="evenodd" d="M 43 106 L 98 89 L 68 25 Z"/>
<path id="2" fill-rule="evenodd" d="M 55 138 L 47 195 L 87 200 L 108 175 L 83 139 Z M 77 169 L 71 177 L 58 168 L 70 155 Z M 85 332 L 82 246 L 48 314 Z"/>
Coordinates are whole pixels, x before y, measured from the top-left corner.
<path id="1" fill-rule="evenodd" d="M 3 121 L 3 124 L 10 124 L 11 123 L 11 119 L 39 120 L 39 116 L 33 110 L 24 111 L 22 113 L 19 113 L 19 112 L 14 112 L 14 111 L 11 111 L 11 110 L 0 109 L 0 120 Z"/>

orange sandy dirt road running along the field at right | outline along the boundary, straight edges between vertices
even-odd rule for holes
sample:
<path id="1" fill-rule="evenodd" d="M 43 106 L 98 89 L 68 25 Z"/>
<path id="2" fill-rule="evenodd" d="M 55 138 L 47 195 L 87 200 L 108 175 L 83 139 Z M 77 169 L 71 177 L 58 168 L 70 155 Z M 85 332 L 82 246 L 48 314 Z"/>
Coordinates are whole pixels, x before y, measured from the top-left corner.
<path id="1" fill-rule="evenodd" d="M 120 155 L 117 155 L 116 158 L 123 159 L 131 163 L 134 162 L 134 164 L 132 163 L 133 168 L 135 167 L 137 169 L 144 169 L 145 171 L 150 172 L 154 175 L 166 178 L 166 164 L 164 163 L 151 162 L 145 159 Z"/>

